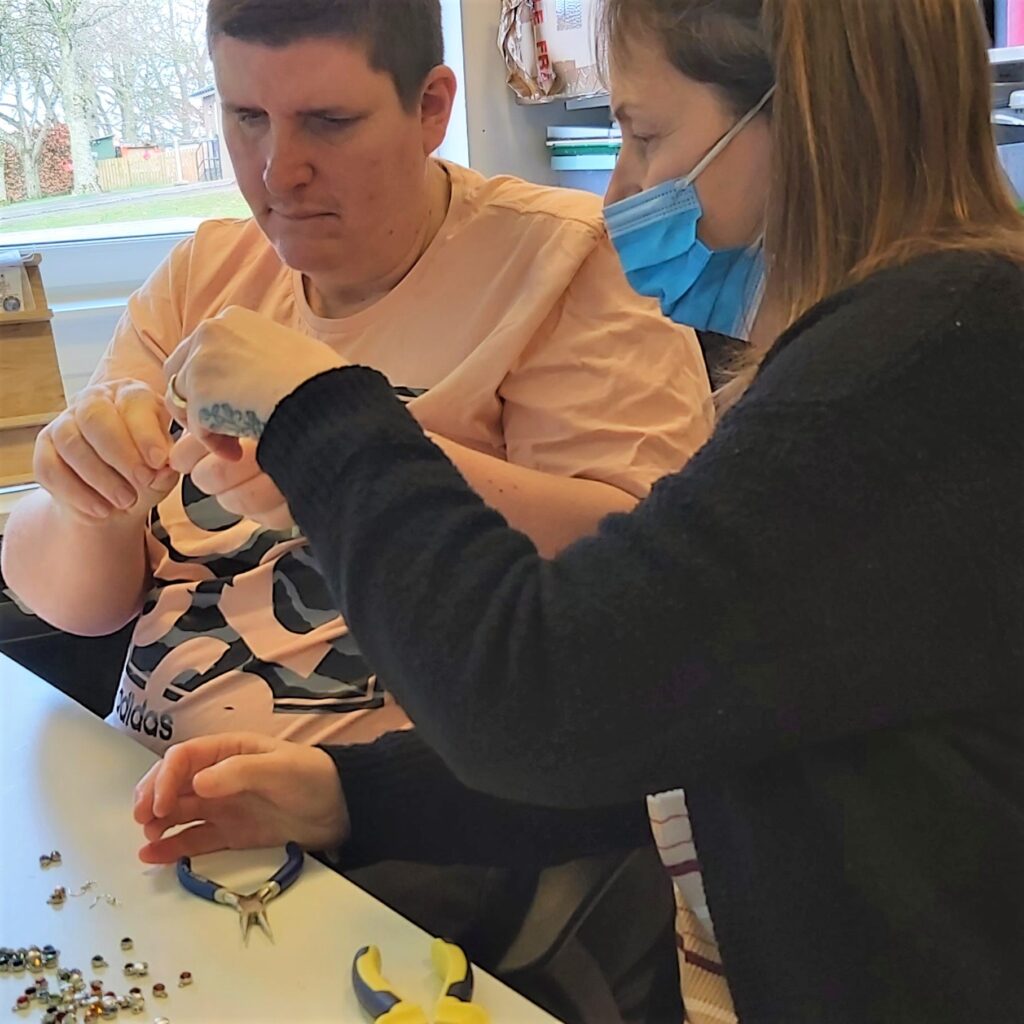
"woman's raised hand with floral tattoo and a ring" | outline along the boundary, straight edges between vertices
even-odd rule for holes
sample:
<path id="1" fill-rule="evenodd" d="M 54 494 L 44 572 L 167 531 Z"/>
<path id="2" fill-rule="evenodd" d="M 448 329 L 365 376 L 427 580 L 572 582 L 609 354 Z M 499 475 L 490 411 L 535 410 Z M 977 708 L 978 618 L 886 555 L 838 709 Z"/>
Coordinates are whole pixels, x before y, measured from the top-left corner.
<path id="1" fill-rule="evenodd" d="M 282 398 L 344 365 L 323 342 L 228 306 L 204 321 L 164 364 L 168 409 L 211 452 L 237 461 L 238 438 L 258 440 Z"/>

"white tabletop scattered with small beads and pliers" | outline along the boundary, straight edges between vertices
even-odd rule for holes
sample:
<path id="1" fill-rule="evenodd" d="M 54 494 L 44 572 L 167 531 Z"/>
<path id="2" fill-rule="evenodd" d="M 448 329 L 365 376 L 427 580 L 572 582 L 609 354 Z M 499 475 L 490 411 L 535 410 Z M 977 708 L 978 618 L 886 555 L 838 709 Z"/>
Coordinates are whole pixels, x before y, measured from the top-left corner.
<path id="1" fill-rule="evenodd" d="M 51 943 L 61 965 L 81 968 L 87 982 L 100 978 L 119 994 L 138 984 L 145 1014 L 123 1011 L 123 1021 L 355 1024 L 366 1017 L 349 983 L 352 956 L 376 944 L 385 976 L 432 1013 L 439 982 L 430 968 L 430 937 L 316 861 L 307 858 L 294 888 L 269 905 L 276 943 L 254 931 L 248 948 L 233 910 L 185 893 L 173 866 L 141 864 L 131 797 L 153 761 L 142 746 L 0 656 L 0 946 Z M 62 865 L 41 869 L 39 855 L 54 849 Z M 196 866 L 248 891 L 282 859 L 280 850 L 250 851 L 200 857 Z M 55 886 L 71 893 L 86 882 L 120 905 L 90 909 L 91 895 L 69 898 L 58 909 L 47 904 Z M 121 950 L 124 936 L 134 940 L 131 952 Z M 110 967 L 93 971 L 95 953 Z M 150 976 L 125 978 L 128 961 L 146 961 Z M 195 976 L 188 988 L 178 987 L 182 971 Z M 552 1024 L 500 982 L 480 971 L 475 976 L 476 1000 L 495 1024 Z M 167 985 L 168 998 L 153 997 L 155 982 Z M 8 1016 L 30 984 L 28 974 L 0 975 L 0 1020 L 41 1018 L 35 1009 Z"/>

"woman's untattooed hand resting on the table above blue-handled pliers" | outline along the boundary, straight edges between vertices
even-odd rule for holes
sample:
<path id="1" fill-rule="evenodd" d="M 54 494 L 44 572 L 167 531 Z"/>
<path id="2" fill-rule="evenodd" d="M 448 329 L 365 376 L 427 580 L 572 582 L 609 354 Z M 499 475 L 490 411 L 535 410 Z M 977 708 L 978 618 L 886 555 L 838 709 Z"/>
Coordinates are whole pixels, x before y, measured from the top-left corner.
<path id="1" fill-rule="evenodd" d="M 135 787 L 139 859 L 166 864 L 218 850 L 332 850 L 349 834 L 345 796 L 323 751 L 245 732 L 172 746 Z M 165 837 L 168 829 L 191 827 Z"/>

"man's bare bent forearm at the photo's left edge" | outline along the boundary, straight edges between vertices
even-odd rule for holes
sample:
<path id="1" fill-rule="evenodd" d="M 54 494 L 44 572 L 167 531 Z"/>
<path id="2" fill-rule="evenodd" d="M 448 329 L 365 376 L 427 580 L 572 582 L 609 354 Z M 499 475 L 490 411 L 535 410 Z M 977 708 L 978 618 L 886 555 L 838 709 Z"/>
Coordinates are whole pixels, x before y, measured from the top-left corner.
<path id="1" fill-rule="evenodd" d="M 7 586 L 69 633 L 114 633 L 142 606 L 147 569 L 137 515 L 85 523 L 40 489 L 11 513 L 2 551 Z"/>

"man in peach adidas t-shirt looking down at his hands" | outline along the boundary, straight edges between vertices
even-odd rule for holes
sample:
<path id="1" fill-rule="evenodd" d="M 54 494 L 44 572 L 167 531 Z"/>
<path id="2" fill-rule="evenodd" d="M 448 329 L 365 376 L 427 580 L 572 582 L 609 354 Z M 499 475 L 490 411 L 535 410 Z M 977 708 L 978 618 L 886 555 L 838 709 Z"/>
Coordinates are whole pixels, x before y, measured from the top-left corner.
<path id="1" fill-rule="evenodd" d="M 203 321 L 243 306 L 381 370 L 548 553 L 631 508 L 711 428 L 695 337 L 633 293 L 594 197 L 429 156 L 455 95 L 437 0 L 279 6 L 209 12 L 253 218 L 205 223 L 131 298 L 41 435 L 43 489 L 3 549 L 8 584 L 55 626 L 140 614 L 109 721 L 158 753 L 407 724 L 252 446 L 231 463 L 195 445 L 189 473 L 169 468 L 163 362 Z"/>

